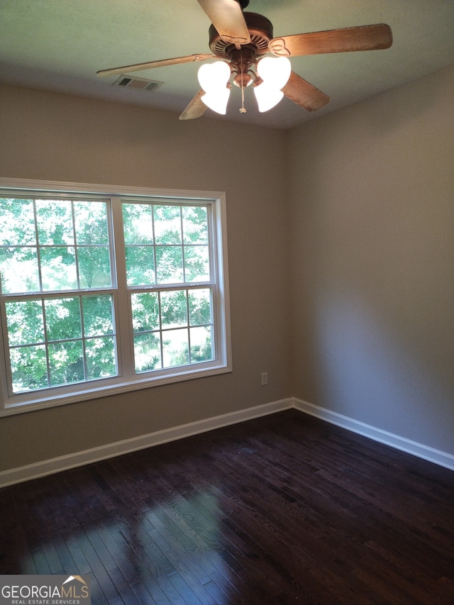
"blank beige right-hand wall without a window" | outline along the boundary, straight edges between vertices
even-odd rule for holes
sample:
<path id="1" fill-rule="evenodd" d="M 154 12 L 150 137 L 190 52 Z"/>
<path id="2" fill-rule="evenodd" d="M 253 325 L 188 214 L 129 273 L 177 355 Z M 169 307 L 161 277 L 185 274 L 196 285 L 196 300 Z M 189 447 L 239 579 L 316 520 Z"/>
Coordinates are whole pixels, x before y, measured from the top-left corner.
<path id="1" fill-rule="evenodd" d="M 294 395 L 454 454 L 454 67 L 289 133 Z"/>

